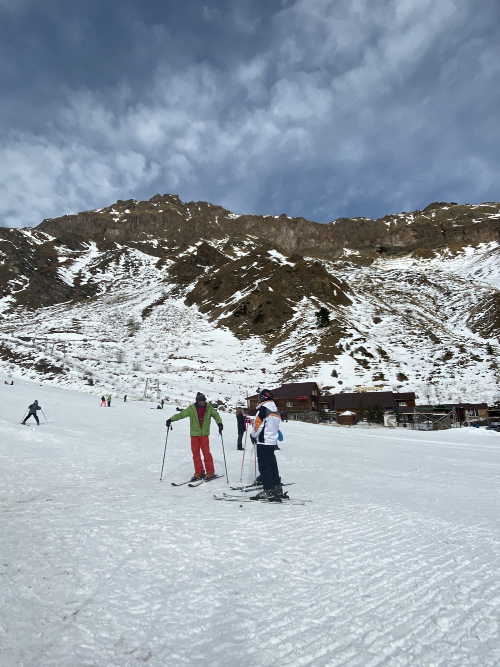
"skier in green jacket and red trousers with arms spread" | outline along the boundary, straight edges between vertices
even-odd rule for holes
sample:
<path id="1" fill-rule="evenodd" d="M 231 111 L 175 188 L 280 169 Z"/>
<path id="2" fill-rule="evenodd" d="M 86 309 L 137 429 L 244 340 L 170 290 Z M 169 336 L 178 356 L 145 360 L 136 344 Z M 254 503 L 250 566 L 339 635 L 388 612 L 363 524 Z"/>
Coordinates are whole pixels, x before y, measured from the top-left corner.
<path id="1" fill-rule="evenodd" d="M 209 480 L 215 476 L 213 468 L 213 458 L 210 454 L 209 434 L 210 434 L 210 420 L 215 420 L 219 425 L 219 433 L 223 430 L 222 419 L 217 410 L 211 403 L 207 403 L 205 394 L 198 392 L 196 394 L 196 402 L 186 408 L 177 412 L 177 414 L 167 419 L 166 426 L 170 428 L 172 422 L 177 422 L 180 419 L 189 417 L 190 435 L 191 435 L 191 452 L 193 453 L 193 462 L 195 464 L 194 480 L 201 480 L 206 478 Z M 200 450 L 203 454 L 203 461 L 205 462 L 205 470 L 201 461 Z"/>

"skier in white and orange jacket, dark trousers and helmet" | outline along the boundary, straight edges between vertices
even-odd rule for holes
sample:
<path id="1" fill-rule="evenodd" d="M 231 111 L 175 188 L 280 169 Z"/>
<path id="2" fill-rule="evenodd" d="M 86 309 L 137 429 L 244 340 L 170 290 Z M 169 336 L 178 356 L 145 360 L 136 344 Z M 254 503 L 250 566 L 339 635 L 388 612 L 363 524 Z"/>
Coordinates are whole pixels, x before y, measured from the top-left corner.
<path id="1" fill-rule="evenodd" d="M 275 457 L 279 436 L 279 410 L 274 402 L 273 392 L 268 389 L 261 391 L 259 399 L 250 439 L 257 448 L 257 462 L 263 490 L 254 497 L 281 502 L 283 488 Z"/>

